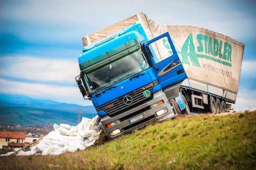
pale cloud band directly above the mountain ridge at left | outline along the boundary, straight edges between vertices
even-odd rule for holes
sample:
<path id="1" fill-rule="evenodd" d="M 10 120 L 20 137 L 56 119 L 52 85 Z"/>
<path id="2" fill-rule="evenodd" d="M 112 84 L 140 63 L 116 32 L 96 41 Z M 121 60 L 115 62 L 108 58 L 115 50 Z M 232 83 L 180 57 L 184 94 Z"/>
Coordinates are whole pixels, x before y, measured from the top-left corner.
<path id="1" fill-rule="evenodd" d="M 0 85 L 1 93 L 23 94 L 35 99 L 51 99 L 78 105 L 92 105 L 92 102 L 83 99 L 79 88 L 76 87 L 31 84 L 7 81 L 6 79 L 0 79 Z"/>

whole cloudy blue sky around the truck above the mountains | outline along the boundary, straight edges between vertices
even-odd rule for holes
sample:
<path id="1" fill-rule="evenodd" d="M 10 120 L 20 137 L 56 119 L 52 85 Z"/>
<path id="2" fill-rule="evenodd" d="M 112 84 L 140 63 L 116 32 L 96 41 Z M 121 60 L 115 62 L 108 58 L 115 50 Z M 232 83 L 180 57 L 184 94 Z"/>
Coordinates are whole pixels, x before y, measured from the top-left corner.
<path id="1" fill-rule="evenodd" d="M 245 44 L 237 110 L 256 110 L 255 0 L 0 0 L 0 93 L 78 105 L 81 38 L 143 12 L 156 23 L 207 28 Z"/>

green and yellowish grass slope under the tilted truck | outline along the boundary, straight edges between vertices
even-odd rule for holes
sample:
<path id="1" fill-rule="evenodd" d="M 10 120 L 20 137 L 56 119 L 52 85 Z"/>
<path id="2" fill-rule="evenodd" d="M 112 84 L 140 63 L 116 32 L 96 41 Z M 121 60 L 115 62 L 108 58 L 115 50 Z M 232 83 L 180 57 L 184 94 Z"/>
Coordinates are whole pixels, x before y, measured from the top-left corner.
<path id="1" fill-rule="evenodd" d="M 184 116 L 60 156 L 0 157 L 0 169 L 255 169 L 256 112 Z"/>

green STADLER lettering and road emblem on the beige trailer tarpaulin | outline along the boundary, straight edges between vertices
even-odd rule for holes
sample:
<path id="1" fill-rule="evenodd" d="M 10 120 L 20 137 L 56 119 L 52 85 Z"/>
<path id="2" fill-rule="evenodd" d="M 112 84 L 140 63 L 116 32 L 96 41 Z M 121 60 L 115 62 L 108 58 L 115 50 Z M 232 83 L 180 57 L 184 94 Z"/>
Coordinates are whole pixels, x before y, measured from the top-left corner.
<path id="1" fill-rule="evenodd" d="M 198 41 L 197 47 L 195 47 L 192 33 L 190 33 L 181 50 L 177 51 L 177 53 L 181 54 L 183 64 L 201 67 L 198 58 L 206 58 L 232 67 L 232 47 L 230 43 L 223 42 L 203 34 L 197 34 L 196 37 Z M 166 40 L 163 40 L 163 45 L 167 48 L 167 50 L 170 50 L 169 45 L 166 45 Z M 172 51 L 169 53 L 171 52 Z"/>

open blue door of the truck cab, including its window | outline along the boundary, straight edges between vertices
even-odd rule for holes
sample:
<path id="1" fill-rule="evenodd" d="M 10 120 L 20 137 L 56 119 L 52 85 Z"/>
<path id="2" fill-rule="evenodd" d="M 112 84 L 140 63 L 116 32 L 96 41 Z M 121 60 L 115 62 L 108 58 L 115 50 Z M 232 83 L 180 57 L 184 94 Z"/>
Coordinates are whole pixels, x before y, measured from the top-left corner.
<path id="1" fill-rule="evenodd" d="M 187 76 L 169 33 L 166 32 L 148 41 L 145 46 L 151 58 L 154 73 L 162 88 L 170 88 L 175 84 L 176 87 L 179 87 L 177 83 L 181 84 Z"/>

